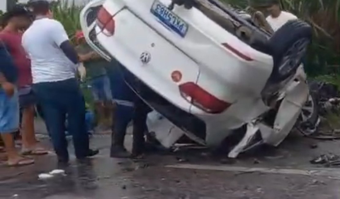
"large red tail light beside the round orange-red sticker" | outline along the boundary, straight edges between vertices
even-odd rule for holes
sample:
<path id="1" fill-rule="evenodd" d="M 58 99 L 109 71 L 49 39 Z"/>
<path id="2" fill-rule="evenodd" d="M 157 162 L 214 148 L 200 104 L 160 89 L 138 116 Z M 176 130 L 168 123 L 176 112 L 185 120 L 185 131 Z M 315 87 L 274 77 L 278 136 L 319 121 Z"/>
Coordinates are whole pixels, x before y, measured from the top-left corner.
<path id="1" fill-rule="evenodd" d="M 179 86 L 181 95 L 194 106 L 208 113 L 221 113 L 231 106 L 193 82 L 187 82 Z"/>

